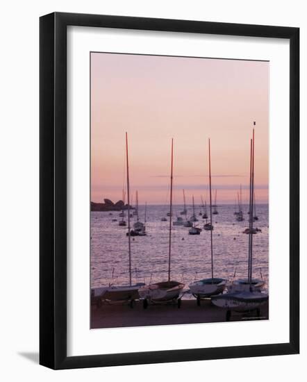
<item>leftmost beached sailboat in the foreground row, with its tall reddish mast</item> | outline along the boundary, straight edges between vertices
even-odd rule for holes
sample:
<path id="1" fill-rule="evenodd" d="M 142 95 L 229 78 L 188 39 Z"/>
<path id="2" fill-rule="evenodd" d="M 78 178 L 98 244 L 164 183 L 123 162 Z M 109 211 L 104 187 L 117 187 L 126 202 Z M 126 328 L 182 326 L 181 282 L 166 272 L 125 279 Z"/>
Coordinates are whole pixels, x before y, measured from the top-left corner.
<path id="1" fill-rule="evenodd" d="M 128 165 L 128 135 L 126 133 L 126 172 L 127 172 L 127 197 L 128 197 L 128 233 L 130 233 L 130 195 L 129 195 L 129 165 Z M 128 235 L 128 271 L 129 271 L 129 283 L 128 285 L 112 285 L 110 284 L 105 288 L 97 288 L 97 295 L 101 302 L 128 302 L 133 307 L 133 301 L 139 299 L 140 295 L 138 290 L 144 283 L 132 283 L 131 272 L 131 236 Z"/>

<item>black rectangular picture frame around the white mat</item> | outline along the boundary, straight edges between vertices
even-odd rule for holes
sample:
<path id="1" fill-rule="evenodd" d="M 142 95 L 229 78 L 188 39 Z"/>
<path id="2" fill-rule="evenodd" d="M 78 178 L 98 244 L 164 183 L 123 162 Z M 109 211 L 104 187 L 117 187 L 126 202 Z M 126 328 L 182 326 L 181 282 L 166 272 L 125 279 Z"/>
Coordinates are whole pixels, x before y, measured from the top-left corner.
<path id="1" fill-rule="evenodd" d="M 67 356 L 67 26 L 210 33 L 290 41 L 290 341 Z M 40 17 L 40 364 L 52 369 L 299 353 L 299 28 L 51 13 Z"/>

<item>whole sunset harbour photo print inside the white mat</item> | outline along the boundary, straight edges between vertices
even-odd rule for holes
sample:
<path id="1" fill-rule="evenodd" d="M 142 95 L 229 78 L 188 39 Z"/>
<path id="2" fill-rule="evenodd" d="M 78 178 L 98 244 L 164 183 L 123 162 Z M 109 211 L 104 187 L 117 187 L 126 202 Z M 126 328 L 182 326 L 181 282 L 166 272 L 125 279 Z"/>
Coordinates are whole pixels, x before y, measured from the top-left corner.
<path id="1" fill-rule="evenodd" d="M 268 319 L 269 62 L 90 53 L 91 329 Z"/>

